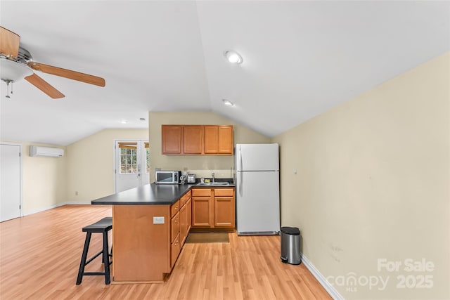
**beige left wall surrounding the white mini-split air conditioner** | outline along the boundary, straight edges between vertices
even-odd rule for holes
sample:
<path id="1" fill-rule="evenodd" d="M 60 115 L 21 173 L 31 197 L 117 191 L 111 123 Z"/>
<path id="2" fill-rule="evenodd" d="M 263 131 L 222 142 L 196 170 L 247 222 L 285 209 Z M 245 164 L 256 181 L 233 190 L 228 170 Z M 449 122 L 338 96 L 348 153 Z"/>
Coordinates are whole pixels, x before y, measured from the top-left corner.
<path id="1" fill-rule="evenodd" d="M 22 211 L 24 216 L 57 207 L 65 202 L 67 157 L 30 157 L 30 145 L 56 147 L 20 141 L 22 145 Z M 63 146 L 58 146 L 63 148 Z"/>

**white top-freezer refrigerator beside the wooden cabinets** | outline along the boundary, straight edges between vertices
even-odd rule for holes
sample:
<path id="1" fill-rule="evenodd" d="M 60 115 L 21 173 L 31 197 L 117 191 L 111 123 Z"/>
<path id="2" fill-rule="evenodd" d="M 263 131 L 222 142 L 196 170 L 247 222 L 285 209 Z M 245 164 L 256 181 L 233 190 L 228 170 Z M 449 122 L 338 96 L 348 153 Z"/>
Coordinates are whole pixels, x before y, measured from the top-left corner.
<path id="1" fill-rule="evenodd" d="M 237 144 L 235 167 L 238 235 L 278 235 L 278 144 Z"/>

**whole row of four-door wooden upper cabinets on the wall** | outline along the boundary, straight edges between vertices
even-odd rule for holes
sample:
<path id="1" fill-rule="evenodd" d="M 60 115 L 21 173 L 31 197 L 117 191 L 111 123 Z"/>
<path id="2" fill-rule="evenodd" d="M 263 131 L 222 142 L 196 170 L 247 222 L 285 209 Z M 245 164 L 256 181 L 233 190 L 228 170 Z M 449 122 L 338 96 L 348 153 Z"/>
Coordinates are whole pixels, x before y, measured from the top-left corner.
<path id="1" fill-rule="evenodd" d="M 232 125 L 162 125 L 163 155 L 233 155 Z"/>

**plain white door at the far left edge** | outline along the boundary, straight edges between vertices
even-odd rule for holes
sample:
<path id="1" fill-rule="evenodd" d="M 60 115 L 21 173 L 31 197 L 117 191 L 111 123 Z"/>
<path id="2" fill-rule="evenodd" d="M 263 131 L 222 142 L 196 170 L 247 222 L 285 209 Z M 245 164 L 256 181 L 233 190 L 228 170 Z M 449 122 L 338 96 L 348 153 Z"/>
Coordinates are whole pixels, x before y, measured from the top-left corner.
<path id="1" fill-rule="evenodd" d="M 20 216 L 20 148 L 0 144 L 0 221 Z"/>

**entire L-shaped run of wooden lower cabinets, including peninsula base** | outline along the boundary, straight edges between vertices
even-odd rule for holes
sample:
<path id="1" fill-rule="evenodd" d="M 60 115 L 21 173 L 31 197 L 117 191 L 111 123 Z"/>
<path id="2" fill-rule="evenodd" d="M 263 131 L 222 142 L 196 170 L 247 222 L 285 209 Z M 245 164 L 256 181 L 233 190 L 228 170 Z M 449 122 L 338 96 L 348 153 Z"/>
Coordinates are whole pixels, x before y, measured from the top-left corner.
<path id="1" fill-rule="evenodd" d="M 113 205 L 113 281 L 163 282 L 192 228 L 234 228 L 234 188 L 192 189 L 172 205 Z"/>

